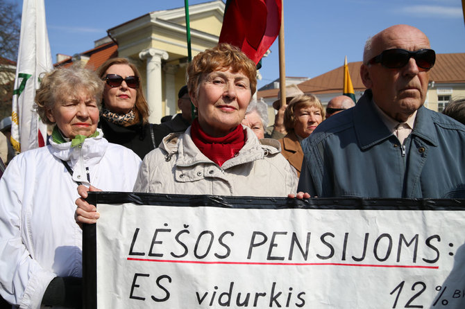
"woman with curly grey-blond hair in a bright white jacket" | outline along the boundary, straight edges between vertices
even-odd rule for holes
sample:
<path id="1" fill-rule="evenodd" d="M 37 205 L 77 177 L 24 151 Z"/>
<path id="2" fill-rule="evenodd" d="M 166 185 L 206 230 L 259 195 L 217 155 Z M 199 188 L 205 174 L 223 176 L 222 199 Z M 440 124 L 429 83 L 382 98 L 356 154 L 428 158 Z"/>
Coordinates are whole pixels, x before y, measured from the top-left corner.
<path id="1" fill-rule="evenodd" d="M 35 103 L 50 145 L 15 157 L 0 180 L 0 294 L 19 308 L 79 308 L 78 184 L 131 191 L 140 158 L 97 130 L 103 81 L 71 67 L 42 77 Z"/>

